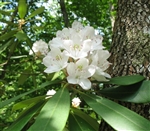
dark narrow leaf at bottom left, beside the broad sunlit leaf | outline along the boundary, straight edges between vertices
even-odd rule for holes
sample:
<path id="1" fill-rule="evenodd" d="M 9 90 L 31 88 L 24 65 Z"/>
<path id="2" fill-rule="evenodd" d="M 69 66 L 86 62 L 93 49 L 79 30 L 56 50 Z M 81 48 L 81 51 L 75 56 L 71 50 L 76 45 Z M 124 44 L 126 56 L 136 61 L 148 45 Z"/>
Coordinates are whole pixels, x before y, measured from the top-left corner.
<path id="1" fill-rule="evenodd" d="M 42 106 L 45 104 L 45 101 L 41 101 L 36 103 L 31 108 L 25 109 L 21 115 L 17 118 L 17 120 L 9 126 L 5 131 L 21 131 L 22 128 L 27 124 L 27 122 L 39 111 Z"/>

